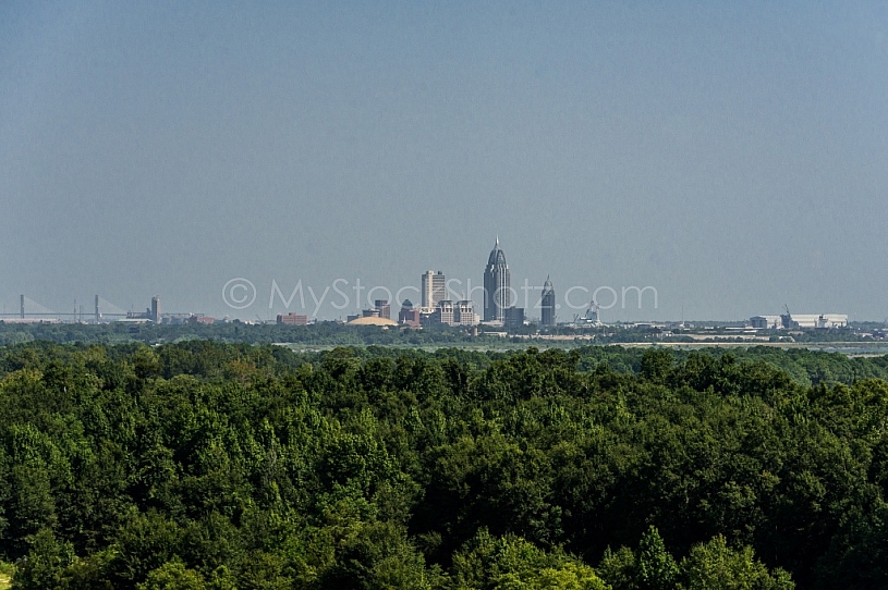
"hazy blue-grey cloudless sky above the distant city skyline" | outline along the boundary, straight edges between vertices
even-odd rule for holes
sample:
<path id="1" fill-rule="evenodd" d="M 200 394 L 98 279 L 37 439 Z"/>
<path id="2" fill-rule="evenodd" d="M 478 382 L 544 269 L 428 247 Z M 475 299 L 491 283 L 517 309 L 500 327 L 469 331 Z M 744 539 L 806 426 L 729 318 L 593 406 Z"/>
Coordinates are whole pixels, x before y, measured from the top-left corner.
<path id="1" fill-rule="evenodd" d="M 7 0 L 0 206 L 7 311 L 333 318 L 498 234 L 514 286 L 656 287 L 606 321 L 881 320 L 888 3 Z"/>

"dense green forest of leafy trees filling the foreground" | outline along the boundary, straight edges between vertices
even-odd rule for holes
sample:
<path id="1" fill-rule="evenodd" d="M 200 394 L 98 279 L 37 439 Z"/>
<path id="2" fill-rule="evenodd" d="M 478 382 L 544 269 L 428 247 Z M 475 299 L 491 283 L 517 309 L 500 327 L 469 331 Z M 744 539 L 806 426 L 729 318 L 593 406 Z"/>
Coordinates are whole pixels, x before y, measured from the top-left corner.
<path id="1" fill-rule="evenodd" d="M 0 348 L 17 589 L 888 587 L 888 357 Z"/>

